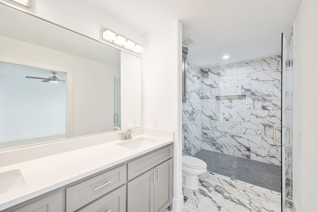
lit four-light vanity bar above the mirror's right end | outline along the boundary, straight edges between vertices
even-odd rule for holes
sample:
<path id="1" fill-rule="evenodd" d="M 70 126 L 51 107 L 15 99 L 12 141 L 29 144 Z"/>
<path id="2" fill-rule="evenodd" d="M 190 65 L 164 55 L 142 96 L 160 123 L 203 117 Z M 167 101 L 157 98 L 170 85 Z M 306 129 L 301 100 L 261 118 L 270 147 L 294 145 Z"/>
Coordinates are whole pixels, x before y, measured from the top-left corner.
<path id="1" fill-rule="evenodd" d="M 111 29 L 108 29 L 108 28 L 102 29 L 102 39 L 107 40 L 120 47 L 124 47 L 125 49 L 129 49 L 138 54 L 143 53 L 142 45 L 136 44 L 135 41 L 127 39 L 125 36 L 121 34 L 116 34 L 116 32 L 114 32 Z"/>

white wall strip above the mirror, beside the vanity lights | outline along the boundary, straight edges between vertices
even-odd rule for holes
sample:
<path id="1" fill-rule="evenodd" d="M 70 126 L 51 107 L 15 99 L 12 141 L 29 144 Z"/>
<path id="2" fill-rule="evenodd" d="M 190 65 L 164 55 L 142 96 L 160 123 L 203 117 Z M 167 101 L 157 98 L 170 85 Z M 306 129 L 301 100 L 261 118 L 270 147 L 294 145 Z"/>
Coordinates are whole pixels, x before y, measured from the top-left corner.
<path id="1" fill-rule="evenodd" d="M 64 27 L 100 40 L 102 27 L 110 28 L 137 43 L 143 36 L 136 29 L 101 12 L 99 8 L 82 0 L 32 0 L 32 8 L 21 6 L 11 0 L 0 0 L 7 5 L 35 14 Z M 111 2 L 110 2 L 111 3 Z"/>

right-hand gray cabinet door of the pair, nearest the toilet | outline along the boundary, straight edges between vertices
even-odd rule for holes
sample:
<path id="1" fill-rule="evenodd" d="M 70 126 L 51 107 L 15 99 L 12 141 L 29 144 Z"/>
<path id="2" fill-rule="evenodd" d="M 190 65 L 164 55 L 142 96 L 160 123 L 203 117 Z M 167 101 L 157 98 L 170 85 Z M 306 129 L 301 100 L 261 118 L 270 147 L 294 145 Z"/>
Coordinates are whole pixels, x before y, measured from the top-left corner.
<path id="1" fill-rule="evenodd" d="M 155 167 L 155 212 L 165 211 L 172 203 L 172 159 Z"/>

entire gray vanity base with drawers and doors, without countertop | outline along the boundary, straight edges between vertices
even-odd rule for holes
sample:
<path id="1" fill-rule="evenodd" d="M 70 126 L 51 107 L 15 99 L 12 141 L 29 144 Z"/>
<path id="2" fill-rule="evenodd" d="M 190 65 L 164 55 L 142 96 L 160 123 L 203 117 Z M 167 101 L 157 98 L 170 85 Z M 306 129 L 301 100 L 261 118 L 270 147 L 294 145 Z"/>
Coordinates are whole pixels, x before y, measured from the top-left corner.
<path id="1" fill-rule="evenodd" d="M 172 158 L 169 144 L 2 212 L 164 212 L 172 204 Z"/>

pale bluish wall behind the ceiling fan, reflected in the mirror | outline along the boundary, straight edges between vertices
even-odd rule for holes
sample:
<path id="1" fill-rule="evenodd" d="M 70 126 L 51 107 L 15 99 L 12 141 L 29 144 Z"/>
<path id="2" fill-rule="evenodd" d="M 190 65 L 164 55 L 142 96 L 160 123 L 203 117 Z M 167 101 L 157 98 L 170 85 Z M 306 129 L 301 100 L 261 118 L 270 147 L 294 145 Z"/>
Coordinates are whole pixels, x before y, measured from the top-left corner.
<path id="1" fill-rule="evenodd" d="M 0 142 L 66 133 L 66 83 L 42 82 L 51 71 L 0 63 Z M 65 73 L 57 74 L 65 79 Z"/>

